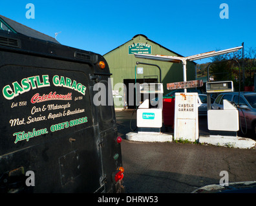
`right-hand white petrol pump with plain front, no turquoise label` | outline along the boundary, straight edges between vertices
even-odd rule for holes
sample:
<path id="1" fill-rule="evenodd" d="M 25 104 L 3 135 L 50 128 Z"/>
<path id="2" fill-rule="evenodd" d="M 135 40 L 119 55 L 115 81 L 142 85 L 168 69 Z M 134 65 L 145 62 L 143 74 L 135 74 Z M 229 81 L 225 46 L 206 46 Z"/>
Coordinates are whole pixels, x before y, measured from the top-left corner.
<path id="1" fill-rule="evenodd" d="M 207 82 L 206 92 L 208 95 L 208 129 L 214 134 L 237 135 L 239 131 L 239 111 L 228 100 L 223 100 L 223 109 L 211 109 L 211 93 L 232 92 L 233 82 Z M 215 132 L 212 132 L 215 131 Z"/>

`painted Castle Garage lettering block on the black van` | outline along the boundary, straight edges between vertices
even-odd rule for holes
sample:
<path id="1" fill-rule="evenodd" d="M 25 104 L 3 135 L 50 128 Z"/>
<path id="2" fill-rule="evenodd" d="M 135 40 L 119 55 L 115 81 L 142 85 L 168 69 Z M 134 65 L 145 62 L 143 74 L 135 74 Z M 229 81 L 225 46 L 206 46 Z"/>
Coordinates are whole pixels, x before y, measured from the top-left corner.
<path id="1" fill-rule="evenodd" d="M 12 65 L 3 71 L 10 70 L 17 71 L 17 75 L 14 72 L 1 79 L 1 101 L 5 105 L 1 120 L 6 127 L 5 135 L 10 136 L 8 142 L 28 146 L 30 142 L 41 144 L 54 135 L 71 135 L 78 129 L 92 126 L 91 108 L 87 106 L 91 104 L 87 91 L 89 80 L 80 71 L 31 70 L 23 66 L 24 73 L 21 73 L 19 66 Z M 10 93 L 10 85 L 19 89 L 18 95 Z"/>

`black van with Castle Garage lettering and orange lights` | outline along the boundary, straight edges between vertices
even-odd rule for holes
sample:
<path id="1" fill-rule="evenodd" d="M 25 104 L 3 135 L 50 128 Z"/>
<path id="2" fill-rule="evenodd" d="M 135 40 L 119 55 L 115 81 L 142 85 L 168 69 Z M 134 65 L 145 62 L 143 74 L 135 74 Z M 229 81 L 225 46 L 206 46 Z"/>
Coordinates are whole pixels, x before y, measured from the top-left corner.
<path id="1" fill-rule="evenodd" d="M 0 60 L 0 191 L 124 192 L 105 59 L 0 31 Z"/>

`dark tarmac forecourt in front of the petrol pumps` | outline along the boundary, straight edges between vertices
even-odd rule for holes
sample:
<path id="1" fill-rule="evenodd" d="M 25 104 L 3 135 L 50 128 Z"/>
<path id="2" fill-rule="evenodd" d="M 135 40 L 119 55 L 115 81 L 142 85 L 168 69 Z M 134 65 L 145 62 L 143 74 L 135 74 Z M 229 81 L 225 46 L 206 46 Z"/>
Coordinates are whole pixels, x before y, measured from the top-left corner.
<path id="1" fill-rule="evenodd" d="M 183 193 L 198 187 L 219 184 L 220 171 L 228 171 L 229 182 L 256 180 L 256 149 L 234 149 L 213 145 L 175 142 L 131 142 L 132 111 L 116 111 L 122 136 L 124 185 L 127 193 Z M 136 115 L 133 115 L 136 119 Z M 200 120 L 203 123 L 206 120 Z M 200 129 L 208 133 L 208 129 Z"/>

